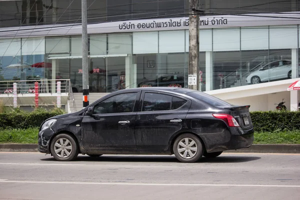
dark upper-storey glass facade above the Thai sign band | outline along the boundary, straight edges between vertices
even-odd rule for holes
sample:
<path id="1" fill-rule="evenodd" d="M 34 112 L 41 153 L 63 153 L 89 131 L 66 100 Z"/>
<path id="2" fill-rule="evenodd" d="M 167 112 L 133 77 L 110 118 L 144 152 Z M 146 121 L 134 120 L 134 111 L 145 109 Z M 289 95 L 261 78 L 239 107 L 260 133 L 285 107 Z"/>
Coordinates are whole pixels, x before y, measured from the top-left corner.
<path id="1" fill-rule="evenodd" d="M 188 0 L 87 0 L 88 22 L 187 16 Z M 208 15 L 299 11 L 299 0 L 199 0 Z M 0 27 L 81 22 L 81 0 L 2 0 Z"/>

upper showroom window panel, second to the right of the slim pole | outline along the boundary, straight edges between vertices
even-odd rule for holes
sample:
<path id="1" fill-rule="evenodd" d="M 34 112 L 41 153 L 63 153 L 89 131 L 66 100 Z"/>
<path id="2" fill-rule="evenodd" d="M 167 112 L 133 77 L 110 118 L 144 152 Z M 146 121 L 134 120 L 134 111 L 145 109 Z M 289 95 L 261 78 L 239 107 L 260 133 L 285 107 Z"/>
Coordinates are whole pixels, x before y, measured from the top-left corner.
<path id="1" fill-rule="evenodd" d="M 108 34 L 108 54 L 132 53 L 131 33 Z"/>

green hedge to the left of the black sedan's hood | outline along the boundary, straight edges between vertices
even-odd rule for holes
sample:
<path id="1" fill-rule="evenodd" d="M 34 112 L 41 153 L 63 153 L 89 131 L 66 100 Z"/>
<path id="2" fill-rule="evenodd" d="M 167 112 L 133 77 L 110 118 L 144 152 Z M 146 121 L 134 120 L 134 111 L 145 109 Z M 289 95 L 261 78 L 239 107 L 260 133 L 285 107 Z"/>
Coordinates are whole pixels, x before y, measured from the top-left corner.
<path id="1" fill-rule="evenodd" d="M 63 114 L 63 110 L 0 113 L 0 129 L 39 127 L 45 119 L 59 114 Z"/>

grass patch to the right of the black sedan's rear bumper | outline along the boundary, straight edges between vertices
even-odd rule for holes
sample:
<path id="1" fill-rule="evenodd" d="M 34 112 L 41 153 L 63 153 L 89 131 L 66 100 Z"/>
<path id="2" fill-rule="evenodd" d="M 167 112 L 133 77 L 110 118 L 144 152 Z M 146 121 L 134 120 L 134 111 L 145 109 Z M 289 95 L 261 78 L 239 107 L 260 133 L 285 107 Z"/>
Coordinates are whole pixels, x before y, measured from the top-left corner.
<path id="1" fill-rule="evenodd" d="M 300 130 L 255 132 L 255 144 L 300 144 Z"/>

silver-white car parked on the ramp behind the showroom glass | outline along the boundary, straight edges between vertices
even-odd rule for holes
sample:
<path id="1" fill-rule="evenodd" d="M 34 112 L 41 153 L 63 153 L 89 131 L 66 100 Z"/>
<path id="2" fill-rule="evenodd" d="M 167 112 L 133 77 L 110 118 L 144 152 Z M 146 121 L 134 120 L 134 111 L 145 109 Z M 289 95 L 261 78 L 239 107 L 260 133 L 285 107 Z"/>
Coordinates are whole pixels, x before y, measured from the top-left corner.
<path id="1" fill-rule="evenodd" d="M 265 64 L 258 70 L 251 72 L 246 77 L 248 84 L 257 84 L 277 79 L 291 78 L 291 61 L 290 60 L 276 60 Z"/>

